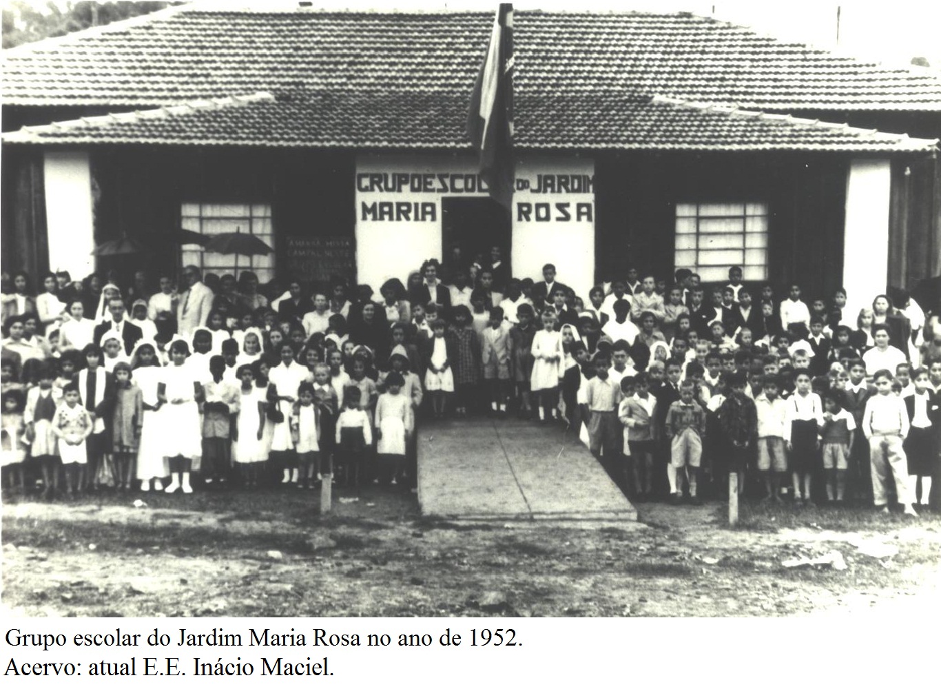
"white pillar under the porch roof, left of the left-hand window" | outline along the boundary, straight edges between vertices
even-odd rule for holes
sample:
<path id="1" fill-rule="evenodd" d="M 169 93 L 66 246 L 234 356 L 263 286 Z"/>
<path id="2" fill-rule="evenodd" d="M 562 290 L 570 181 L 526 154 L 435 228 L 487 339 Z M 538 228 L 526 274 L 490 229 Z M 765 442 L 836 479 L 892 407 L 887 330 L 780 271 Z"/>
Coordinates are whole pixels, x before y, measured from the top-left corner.
<path id="1" fill-rule="evenodd" d="M 43 161 L 49 268 L 81 280 L 95 268 L 88 152 L 46 151 Z"/>

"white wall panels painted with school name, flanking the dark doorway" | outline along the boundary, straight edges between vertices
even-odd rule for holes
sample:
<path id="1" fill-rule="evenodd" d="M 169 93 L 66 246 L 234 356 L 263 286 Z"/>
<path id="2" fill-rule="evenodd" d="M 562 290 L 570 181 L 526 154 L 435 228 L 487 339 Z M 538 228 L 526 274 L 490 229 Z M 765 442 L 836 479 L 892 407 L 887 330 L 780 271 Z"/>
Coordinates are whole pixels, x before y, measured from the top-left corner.
<path id="1" fill-rule="evenodd" d="M 441 258 L 441 200 L 485 197 L 470 156 L 360 156 L 357 160 L 357 270 L 378 286 Z M 594 283 L 594 161 L 574 156 L 518 160 L 512 209 L 513 274 L 538 280 L 556 264 L 559 280 L 584 296 Z"/>

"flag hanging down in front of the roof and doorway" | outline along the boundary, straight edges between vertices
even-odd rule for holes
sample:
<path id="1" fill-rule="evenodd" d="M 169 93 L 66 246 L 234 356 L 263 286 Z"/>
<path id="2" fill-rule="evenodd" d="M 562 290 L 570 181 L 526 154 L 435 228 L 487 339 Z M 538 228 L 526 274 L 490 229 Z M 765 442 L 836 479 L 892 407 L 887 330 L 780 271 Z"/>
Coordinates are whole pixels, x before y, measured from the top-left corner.
<path id="1" fill-rule="evenodd" d="M 513 6 L 501 3 L 486 59 L 470 95 L 468 136 L 480 155 L 480 175 L 490 197 L 507 208 L 513 200 Z"/>

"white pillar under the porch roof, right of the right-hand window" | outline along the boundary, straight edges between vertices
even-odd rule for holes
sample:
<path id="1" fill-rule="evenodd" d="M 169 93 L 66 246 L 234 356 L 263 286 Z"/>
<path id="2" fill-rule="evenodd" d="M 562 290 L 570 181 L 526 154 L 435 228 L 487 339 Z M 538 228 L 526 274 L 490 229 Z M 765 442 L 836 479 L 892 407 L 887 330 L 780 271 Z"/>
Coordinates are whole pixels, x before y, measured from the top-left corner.
<path id="1" fill-rule="evenodd" d="M 858 159 L 846 180 L 843 230 L 844 316 L 872 304 L 888 281 L 888 218 L 892 168 L 887 160 Z"/>

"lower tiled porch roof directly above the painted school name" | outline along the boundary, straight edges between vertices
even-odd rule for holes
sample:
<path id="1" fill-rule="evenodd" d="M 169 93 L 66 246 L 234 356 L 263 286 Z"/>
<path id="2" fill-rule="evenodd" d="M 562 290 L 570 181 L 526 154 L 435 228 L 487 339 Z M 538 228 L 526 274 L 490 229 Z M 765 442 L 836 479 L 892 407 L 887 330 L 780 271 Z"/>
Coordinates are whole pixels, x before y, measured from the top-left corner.
<path id="1" fill-rule="evenodd" d="M 467 100 L 442 92 L 257 93 L 28 127 L 4 141 L 468 150 Z M 930 152 L 937 143 L 618 92 L 522 96 L 516 105 L 522 150 Z"/>

